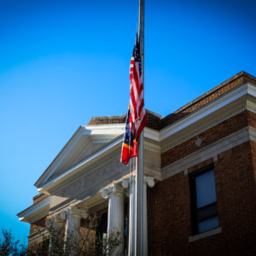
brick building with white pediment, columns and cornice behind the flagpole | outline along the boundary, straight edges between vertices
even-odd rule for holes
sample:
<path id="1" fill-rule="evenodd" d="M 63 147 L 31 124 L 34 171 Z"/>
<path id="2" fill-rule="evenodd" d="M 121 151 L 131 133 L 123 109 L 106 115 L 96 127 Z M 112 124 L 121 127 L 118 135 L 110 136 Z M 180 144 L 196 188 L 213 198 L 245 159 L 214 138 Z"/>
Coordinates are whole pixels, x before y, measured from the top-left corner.
<path id="1" fill-rule="evenodd" d="M 255 255 L 256 79 L 237 73 L 166 117 L 147 114 L 148 255 Z M 87 207 L 108 216 L 106 232 L 129 225 L 132 254 L 135 184 L 133 166 L 119 162 L 124 129 L 125 115 L 79 127 L 35 183 L 32 206 L 18 214 L 31 224 L 29 243 L 47 233 L 46 217 L 72 229 Z"/>

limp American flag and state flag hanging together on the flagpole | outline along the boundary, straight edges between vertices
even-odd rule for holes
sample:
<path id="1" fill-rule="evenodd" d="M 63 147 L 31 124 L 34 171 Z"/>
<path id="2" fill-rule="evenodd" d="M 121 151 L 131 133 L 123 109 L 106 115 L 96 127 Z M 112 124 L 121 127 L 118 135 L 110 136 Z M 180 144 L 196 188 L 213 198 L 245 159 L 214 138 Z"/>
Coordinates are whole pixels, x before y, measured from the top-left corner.
<path id="1" fill-rule="evenodd" d="M 137 37 L 131 56 L 130 80 L 131 99 L 129 102 L 121 155 L 121 161 L 125 165 L 128 164 L 131 157 L 137 156 L 137 142 L 147 123 L 147 115 L 144 107 L 140 44 Z"/>

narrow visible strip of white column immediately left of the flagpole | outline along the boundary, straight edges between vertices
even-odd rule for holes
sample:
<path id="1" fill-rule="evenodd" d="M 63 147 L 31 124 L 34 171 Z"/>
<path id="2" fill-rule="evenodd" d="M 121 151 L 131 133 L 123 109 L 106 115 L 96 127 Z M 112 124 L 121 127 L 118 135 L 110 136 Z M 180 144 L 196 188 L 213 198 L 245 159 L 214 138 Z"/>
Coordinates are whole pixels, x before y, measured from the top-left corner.
<path id="1" fill-rule="evenodd" d="M 136 177 L 125 177 L 123 180 L 123 187 L 126 189 L 130 186 L 130 202 L 129 202 L 129 242 L 128 242 L 128 256 L 135 255 L 135 232 L 136 232 Z"/>

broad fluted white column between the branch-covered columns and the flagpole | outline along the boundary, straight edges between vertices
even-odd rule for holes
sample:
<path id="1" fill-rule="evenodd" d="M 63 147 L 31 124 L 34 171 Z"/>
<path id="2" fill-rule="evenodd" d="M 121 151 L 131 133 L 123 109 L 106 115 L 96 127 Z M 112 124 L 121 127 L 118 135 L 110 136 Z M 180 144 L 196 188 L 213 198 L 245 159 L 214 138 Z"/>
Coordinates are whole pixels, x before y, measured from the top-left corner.
<path id="1" fill-rule="evenodd" d="M 123 189 L 119 184 L 114 183 L 103 189 L 102 197 L 108 198 L 108 235 L 119 232 L 121 243 L 115 252 L 123 253 L 125 218 Z"/>

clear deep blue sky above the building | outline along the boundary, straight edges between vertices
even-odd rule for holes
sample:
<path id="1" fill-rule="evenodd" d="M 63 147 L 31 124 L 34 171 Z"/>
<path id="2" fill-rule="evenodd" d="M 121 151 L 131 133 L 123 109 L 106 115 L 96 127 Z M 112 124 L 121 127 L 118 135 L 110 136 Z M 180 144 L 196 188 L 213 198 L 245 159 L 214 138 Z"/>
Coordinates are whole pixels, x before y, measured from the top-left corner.
<path id="1" fill-rule="evenodd" d="M 145 0 L 145 104 L 166 115 L 241 70 L 256 76 L 256 1 Z M 138 3 L 1 0 L 0 229 L 79 125 L 126 113 Z"/>

